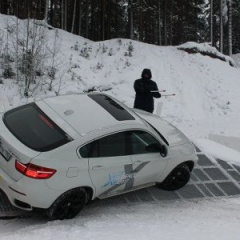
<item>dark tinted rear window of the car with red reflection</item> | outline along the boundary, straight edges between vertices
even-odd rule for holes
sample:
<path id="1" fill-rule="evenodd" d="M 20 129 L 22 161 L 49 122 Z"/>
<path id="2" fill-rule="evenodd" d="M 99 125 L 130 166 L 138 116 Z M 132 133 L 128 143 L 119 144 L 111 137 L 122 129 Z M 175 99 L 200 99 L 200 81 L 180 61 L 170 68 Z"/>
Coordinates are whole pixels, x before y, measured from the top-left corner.
<path id="1" fill-rule="evenodd" d="M 35 103 L 6 112 L 3 121 L 20 142 L 36 151 L 50 151 L 72 140 Z"/>

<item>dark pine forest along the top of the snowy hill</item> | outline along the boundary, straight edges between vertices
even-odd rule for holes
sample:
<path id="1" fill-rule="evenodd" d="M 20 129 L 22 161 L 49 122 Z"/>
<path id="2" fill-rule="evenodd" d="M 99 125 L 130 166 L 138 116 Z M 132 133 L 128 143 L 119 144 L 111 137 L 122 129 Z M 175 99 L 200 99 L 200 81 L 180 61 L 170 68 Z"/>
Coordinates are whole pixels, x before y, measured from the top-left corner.
<path id="1" fill-rule="evenodd" d="M 240 51 L 239 5 L 239 0 L 1 0 L 0 12 L 45 20 L 94 41 L 208 41 L 231 54 Z"/>

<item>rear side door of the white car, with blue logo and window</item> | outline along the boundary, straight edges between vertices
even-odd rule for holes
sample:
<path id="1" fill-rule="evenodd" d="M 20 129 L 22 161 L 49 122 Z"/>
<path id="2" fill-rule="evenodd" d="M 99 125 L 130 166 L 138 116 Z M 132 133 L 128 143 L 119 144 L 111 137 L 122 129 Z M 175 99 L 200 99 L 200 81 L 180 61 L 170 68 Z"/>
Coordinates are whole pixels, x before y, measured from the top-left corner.
<path id="1" fill-rule="evenodd" d="M 81 153 L 82 151 L 82 153 Z M 125 190 L 131 178 L 131 157 L 124 132 L 100 138 L 80 150 L 90 152 L 89 174 L 98 197 L 114 195 Z"/>

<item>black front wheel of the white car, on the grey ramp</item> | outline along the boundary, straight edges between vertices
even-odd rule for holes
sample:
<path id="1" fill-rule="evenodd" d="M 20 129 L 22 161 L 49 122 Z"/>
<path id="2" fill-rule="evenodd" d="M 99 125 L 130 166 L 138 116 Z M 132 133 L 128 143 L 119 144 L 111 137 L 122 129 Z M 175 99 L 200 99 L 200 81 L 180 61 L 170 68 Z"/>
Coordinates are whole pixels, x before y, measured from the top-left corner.
<path id="1" fill-rule="evenodd" d="M 166 191 L 175 191 L 185 186 L 191 177 L 191 172 L 187 164 L 181 164 L 174 168 L 166 179 L 158 186 Z"/>

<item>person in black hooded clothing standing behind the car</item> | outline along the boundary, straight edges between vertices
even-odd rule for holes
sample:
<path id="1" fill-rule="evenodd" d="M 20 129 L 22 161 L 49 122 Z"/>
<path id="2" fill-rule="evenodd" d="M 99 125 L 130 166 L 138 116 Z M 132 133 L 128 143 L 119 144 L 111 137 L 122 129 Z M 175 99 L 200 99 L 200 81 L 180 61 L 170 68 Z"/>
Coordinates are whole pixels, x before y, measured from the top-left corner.
<path id="1" fill-rule="evenodd" d="M 157 84 L 151 78 L 151 70 L 145 68 L 142 71 L 142 78 L 134 82 L 134 90 L 136 92 L 134 108 L 153 113 L 153 98 L 160 98 L 161 94 L 158 92 Z"/>

